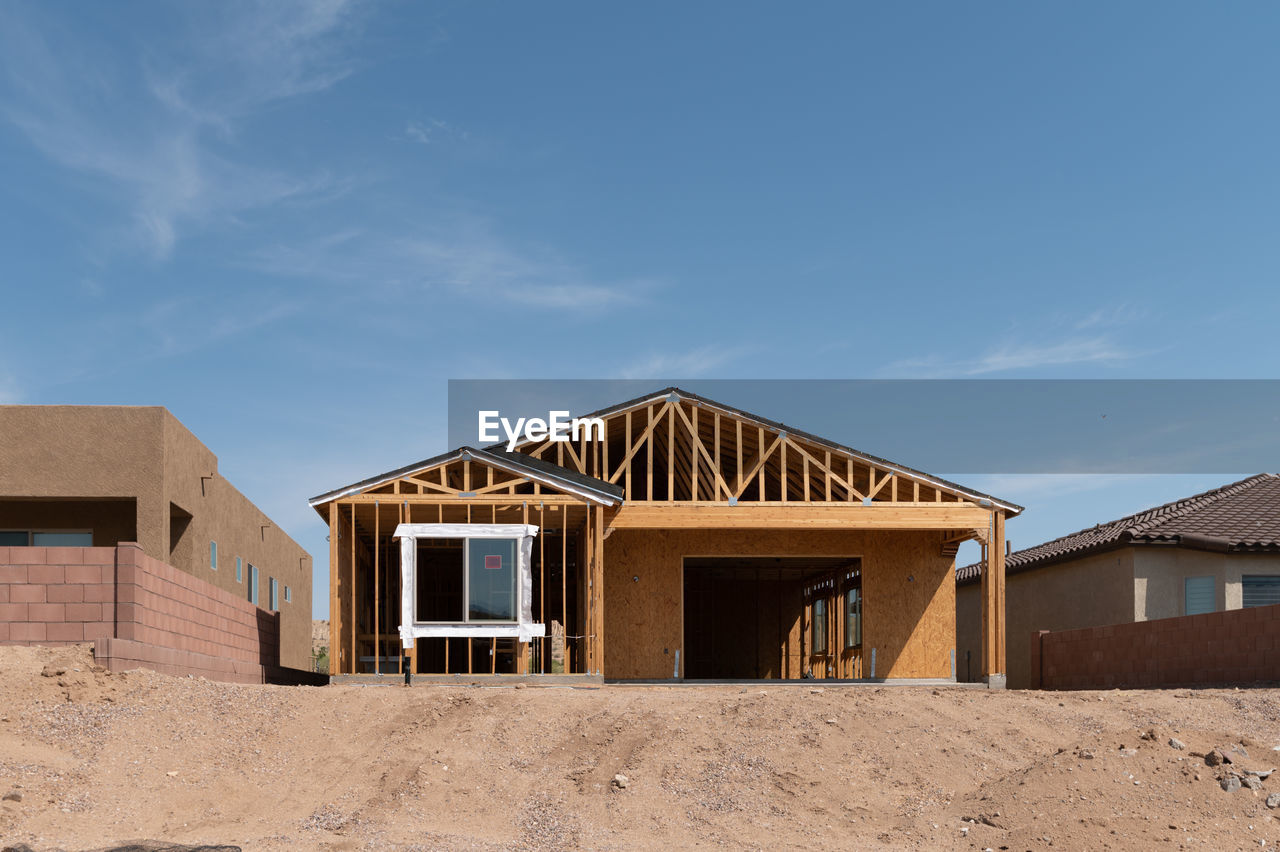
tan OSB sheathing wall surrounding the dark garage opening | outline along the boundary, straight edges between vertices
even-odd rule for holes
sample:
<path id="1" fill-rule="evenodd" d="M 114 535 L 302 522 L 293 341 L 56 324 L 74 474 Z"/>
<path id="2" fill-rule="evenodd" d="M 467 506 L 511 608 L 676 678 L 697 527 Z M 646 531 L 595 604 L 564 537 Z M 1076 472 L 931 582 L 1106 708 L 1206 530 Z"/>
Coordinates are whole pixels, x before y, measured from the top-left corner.
<path id="1" fill-rule="evenodd" d="M 863 647 L 877 677 L 950 677 L 955 563 L 940 532 L 616 530 L 604 540 L 604 674 L 669 678 L 682 641 L 685 556 L 860 556 Z M 788 640 L 799 664 L 799 628 Z M 797 673 L 792 670 L 792 677 Z"/>

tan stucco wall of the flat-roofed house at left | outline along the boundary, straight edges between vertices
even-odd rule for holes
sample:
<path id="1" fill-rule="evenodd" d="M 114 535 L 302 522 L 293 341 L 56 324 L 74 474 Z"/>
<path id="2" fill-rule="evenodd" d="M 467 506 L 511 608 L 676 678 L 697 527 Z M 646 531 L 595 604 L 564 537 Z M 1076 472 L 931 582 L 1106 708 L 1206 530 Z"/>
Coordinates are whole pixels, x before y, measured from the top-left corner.
<path id="1" fill-rule="evenodd" d="M 308 668 L 311 558 L 218 475 L 218 457 L 172 413 L 161 407 L 0 406 L 0 528 L 92 528 L 95 545 L 116 544 L 119 539 L 106 539 L 129 528 L 119 517 L 120 504 L 95 507 L 83 498 L 133 500 L 129 535 L 147 555 L 229 592 L 248 597 L 248 563 L 256 564 L 262 608 L 268 577 L 279 580 L 280 663 Z M 192 516 L 177 556 L 169 549 L 170 503 Z M 210 540 L 218 541 L 216 572 L 209 564 Z M 241 583 L 237 555 L 244 563 Z M 291 603 L 284 601 L 285 585 Z"/>

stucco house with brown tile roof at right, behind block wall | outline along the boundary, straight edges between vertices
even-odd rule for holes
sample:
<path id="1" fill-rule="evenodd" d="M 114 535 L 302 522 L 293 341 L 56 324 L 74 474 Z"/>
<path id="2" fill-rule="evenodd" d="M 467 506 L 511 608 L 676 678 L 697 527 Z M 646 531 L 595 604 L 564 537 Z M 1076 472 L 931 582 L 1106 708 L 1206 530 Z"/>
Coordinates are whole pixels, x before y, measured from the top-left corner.
<path id="1" fill-rule="evenodd" d="M 978 656 L 980 563 L 956 572 L 960 677 Z M 1009 554 L 1009 686 L 1030 636 L 1280 604 L 1280 476 L 1239 482 Z M 977 669 L 973 669 L 973 679 Z"/>

